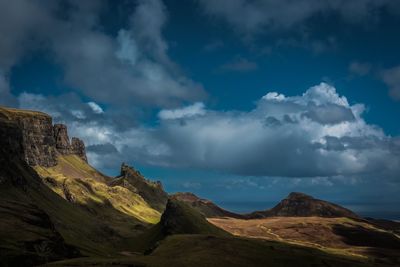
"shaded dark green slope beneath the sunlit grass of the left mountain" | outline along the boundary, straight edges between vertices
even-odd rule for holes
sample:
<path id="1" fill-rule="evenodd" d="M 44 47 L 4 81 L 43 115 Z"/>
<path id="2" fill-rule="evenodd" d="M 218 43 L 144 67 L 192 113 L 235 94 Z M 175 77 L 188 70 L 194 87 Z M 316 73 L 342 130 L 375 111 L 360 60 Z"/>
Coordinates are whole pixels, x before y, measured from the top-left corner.
<path id="1" fill-rule="evenodd" d="M 29 242 L 44 244 L 60 236 L 62 241 L 57 244 L 65 243 L 75 247 L 82 255 L 117 256 L 128 246 L 127 240 L 143 231 L 143 224 L 140 224 L 139 231 L 137 220 L 121 213 L 112 205 L 89 204 L 89 207 L 96 205 L 96 210 L 103 210 L 103 217 L 94 216 L 88 206 L 66 201 L 48 188 L 25 162 L 0 151 L 2 264 L 6 264 L 5 259 L 12 262 L 23 255 L 39 255 L 37 247 L 27 248 Z M 109 224 L 107 216 L 117 217 L 121 221 Z M 45 219 L 40 220 L 41 217 Z M 41 226 L 46 224 L 47 227 Z M 35 260 L 47 261 L 70 256 L 55 250 L 49 253 L 54 257 L 39 255 Z"/>

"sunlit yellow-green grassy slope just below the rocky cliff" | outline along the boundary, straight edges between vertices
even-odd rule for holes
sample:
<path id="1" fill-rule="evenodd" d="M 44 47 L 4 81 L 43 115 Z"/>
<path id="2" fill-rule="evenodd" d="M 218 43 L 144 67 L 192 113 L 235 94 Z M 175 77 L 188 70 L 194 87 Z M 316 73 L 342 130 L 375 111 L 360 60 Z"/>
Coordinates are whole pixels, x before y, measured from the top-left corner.
<path id="1" fill-rule="evenodd" d="M 109 186 L 111 178 L 76 155 L 59 156 L 56 166 L 36 166 L 35 170 L 55 193 L 112 224 L 120 221 L 126 224 L 127 217 L 143 224 L 154 224 L 160 220 L 161 214 L 138 193 L 119 185 Z"/>

